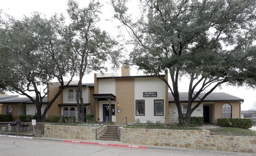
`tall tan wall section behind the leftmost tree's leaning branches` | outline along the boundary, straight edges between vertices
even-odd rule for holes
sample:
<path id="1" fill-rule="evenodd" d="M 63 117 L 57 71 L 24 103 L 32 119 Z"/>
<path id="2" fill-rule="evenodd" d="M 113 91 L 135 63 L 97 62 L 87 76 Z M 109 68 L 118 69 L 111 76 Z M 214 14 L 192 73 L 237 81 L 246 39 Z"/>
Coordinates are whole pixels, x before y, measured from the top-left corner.
<path id="1" fill-rule="evenodd" d="M 59 83 L 48 84 L 48 91 L 49 91 L 49 94 L 47 96 L 47 99 L 48 101 L 51 101 L 59 91 Z M 61 92 L 61 94 L 57 97 L 54 103 L 52 103 L 52 106 L 48 110 L 47 112 L 48 116 L 61 116 L 61 108 L 58 105 L 62 103 L 62 98 L 63 98 L 63 94 Z"/>

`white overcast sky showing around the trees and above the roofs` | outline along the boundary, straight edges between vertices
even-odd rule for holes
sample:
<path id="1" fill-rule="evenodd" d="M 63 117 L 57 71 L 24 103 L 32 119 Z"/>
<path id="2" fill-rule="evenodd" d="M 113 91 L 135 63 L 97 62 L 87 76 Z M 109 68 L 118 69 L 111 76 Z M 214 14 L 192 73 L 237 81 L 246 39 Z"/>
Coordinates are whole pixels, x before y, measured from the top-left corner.
<path id="1" fill-rule="evenodd" d="M 78 0 L 78 2 L 80 7 L 85 7 L 87 6 L 89 1 Z M 99 2 L 101 4 L 104 4 L 101 9 L 102 20 L 99 23 L 99 27 L 102 30 L 108 31 L 108 33 L 112 37 L 116 37 L 117 35 L 119 35 L 119 30 L 116 28 L 116 26 L 120 23 L 117 20 L 106 21 L 106 19 L 111 19 L 111 17 L 113 17 L 113 9 L 111 5 L 108 4 L 110 0 L 99 0 Z M 138 0 L 133 0 L 129 8 L 137 9 L 137 2 Z M 68 18 L 66 11 L 67 2 L 65 0 L 0 0 L 0 9 L 2 9 L 4 13 L 12 15 L 15 18 L 22 18 L 23 15 L 30 16 L 33 11 L 44 13 L 47 17 L 50 17 L 54 13 L 63 13 L 63 15 Z M 135 15 L 139 13 L 139 11 L 136 9 L 132 10 Z M 118 70 L 117 72 L 119 73 L 119 75 L 121 75 L 121 70 Z M 142 74 L 142 72 L 137 72 L 135 68 L 131 69 L 131 75 Z M 93 73 L 90 75 L 85 75 L 83 78 L 83 83 L 91 83 L 93 82 L 93 79 Z M 74 80 L 76 80 L 76 78 L 74 78 Z M 186 78 L 182 79 L 182 81 L 179 83 L 179 91 L 187 92 L 188 84 L 189 81 Z M 245 87 L 237 88 L 234 86 L 223 85 L 222 89 L 217 88 L 214 92 L 225 92 L 227 94 L 231 94 L 239 98 L 245 99 L 244 103 L 242 103 L 241 105 L 241 110 L 249 110 L 250 108 L 252 108 L 253 104 L 256 103 L 256 91 L 253 89 L 246 89 Z M 10 95 L 11 93 L 7 92 L 7 94 Z"/>

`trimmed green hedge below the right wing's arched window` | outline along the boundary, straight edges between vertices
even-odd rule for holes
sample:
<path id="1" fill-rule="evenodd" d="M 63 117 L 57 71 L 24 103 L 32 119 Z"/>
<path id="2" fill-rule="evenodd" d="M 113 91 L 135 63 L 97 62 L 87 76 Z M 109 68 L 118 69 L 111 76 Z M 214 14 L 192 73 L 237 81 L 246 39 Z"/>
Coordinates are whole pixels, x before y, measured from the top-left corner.
<path id="1" fill-rule="evenodd" d="M 239 118 L 222 118 L 218 119 L 219 127 L 236 127 L 236 128 L 251 128 L 252 120 L 251 119 L 239 119 Z"/>

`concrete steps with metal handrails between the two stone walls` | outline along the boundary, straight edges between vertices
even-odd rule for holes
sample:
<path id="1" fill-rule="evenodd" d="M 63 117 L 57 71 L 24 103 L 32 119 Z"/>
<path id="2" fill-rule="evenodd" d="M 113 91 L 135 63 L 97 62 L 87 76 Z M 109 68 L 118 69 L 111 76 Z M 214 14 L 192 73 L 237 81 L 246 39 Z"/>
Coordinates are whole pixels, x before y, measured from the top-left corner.
<path id="1" fill-rule="evenodd" d="M 109 141 L 119 141 L 118 137 L 118 127 L 115 125 L 108 125 L 106 132 L 98 138 L 98 140 L 109 140 Z"/>

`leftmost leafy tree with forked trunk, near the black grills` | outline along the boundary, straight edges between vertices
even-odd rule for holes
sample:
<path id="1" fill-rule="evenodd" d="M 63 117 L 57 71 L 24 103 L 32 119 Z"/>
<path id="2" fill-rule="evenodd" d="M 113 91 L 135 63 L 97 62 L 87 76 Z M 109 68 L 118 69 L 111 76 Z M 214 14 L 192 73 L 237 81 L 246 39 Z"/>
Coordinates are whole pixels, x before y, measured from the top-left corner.
<path id="1" fill-rule="evenodd" d="M 46 19 L 33 13 L 32 17 L 20 20 L 7 16 L 7 20 L 0 22 L 0 87 L 26 95 L 37 108 L 38 121 L 45 120 L 47 110 L 75 74 L 75 57 L 65 42 L 67 32 L 64 18 L 56 15 Z M 66 76 L 70 77 L 68 82 L 63 81 Z M 59 90 L 42 113 L 47 85 L 52 85 L 54 79 L 58 79 Z M 40 86 L 45 87 L 42 93 Z"/>

